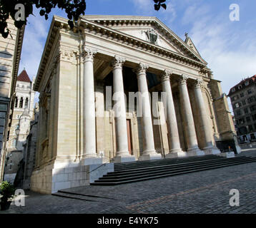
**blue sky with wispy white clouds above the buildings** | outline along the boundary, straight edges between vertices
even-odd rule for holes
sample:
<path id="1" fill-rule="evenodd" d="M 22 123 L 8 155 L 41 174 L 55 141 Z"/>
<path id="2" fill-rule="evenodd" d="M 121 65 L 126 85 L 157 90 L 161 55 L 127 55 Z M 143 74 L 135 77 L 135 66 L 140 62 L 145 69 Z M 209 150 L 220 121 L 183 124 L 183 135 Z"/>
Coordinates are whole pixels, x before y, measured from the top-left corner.
<path id="1" fill-rule="evenodd" d="M 240 21 L 230 21 L 231 4 L 240 6 Z M 256 74 L 255 9 L 255 0 L 167 0 L 167 10 L 160 11 L 154 11 L 153 0 L 87 0 L 86 14 L 157 16 L 183 40 L 189 33 L 228 93 L 242 78 Z M 59 9 L 51 11 L 47 21 L 37 9 L 29 17 L 19 72 L 26 68 L 31 78 L 36 76 L 54 14 L 66 17 Z"/>

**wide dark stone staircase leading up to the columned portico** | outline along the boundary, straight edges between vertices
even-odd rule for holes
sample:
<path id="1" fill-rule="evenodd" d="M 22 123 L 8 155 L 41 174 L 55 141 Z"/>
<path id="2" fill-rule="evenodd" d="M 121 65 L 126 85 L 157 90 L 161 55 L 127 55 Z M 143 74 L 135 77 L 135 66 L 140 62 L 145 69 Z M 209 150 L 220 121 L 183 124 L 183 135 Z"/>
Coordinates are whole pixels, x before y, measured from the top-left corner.
<path id="1" fill-rule="evenodd" d="M 256 162 L 256 157 L 226 158 L 220 155 L 203 155 L 114 164 L 114 172 L 100 177 L 90 185 L 120 185 L 129 182 L 152 180 L 160 177 L 182 175 L 202 170 L 212 170 L 231 165 Z"/>

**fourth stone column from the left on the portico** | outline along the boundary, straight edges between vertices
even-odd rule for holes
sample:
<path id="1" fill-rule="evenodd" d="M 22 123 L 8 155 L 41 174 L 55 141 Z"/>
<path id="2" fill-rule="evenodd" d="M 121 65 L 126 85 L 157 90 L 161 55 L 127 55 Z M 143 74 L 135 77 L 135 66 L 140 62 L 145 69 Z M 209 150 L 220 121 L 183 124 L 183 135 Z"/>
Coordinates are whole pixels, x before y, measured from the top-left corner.
<path id="1" fill-rule="evenodd" d="M 167 103 L 164 104 L 166 108 L 166 119 L 167 119 L 167 128 L 169 135 L 169 154 L 166 157 L 178 157 L 178 152 L 182 152 L 179 143 L 179 132 L 177 126 L 177 118 L 174 108 L 174 102 L 172 98 L 172 88 L 169 82 L 169 76 L 171 72 L 164 71 L 161 76 L 162 81 L 162 91 L 167 95 Z"/>

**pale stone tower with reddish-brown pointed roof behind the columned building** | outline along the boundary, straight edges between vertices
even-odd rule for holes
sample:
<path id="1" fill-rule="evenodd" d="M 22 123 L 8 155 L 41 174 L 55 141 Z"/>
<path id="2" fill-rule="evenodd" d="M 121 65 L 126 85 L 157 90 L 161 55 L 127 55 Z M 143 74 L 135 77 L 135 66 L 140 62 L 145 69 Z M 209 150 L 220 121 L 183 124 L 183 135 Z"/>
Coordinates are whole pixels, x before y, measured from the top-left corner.
<path id="1" fill-rule="evenodd" d="M 26 70 L 19 74 L 16 81 L 14 111 L 11 120 L 9 140 L 7 142 L 4 180 L 14 182 L 20 161 L 24 157 L 24 142 L 29 135 L 30 122 L 34 120 L 34 86 Z"/>

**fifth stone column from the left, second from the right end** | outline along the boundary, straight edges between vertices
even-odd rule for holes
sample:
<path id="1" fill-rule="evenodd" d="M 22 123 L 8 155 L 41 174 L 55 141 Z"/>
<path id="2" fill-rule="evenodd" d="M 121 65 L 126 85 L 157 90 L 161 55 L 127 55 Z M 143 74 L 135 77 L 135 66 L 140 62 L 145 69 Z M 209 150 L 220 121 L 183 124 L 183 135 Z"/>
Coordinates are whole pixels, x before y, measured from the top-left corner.
<path id="1" fill-rule="evenodd" d="M 184 128 L 185 135 L 187 139 L 187 155 L 204 155 L 197 143 L 197 133 L 195 131 L 195 123 L 192 114 L 192 108 L 189 100 L 189 93 L 187 90 L 187 76 L 182 75 L 179 78 L 179 95 L 180 95 L 180 103 L 182 105 L 183 110 L 183 118 L 184 118 Z"/>

